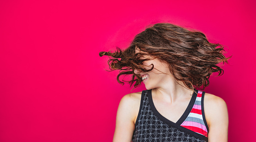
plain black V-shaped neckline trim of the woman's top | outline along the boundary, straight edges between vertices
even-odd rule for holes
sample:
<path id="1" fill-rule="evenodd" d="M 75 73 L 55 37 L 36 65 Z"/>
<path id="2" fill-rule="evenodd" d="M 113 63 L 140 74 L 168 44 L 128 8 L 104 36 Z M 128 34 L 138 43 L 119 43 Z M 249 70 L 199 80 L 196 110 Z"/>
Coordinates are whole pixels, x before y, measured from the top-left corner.
<path id="1" fill-rule="evenodd" d="M 183 123 L 183 121 L 186 120 L 186 117 L 189 115 L 190 111 L 192 110 L 193 104 L 195 103 L 196 98 L 197 98 L 197 94 L 198 94 L 198 90 L 194 89 L 192 97 L 190 99 L 190 102 L 189 102 L 188 106 L 186 107 L 185 112 L 181 115 L 180 119 L 176 123 L 171 121 L 171 120 L 169 120 L 169 119 L 167 119 L 167 118 L 165 118 L 163 115 L 161 115 L 157 111 L 157 109 L 156 109 L 156 107 L 155 107 L 155 105 L 153 103 L 152 89 L 149 90 L 148 98 L 149 98 L 149 104 L 151 105 L 151 109 L 152 109 L 153 113 L 158 117 L 158 119 L 160 119 L 160 120 L 162 120 L 162 121 L 164 121 L 166 123 L 173 124 L 175 126 L 176 125 L 180 126 Z"/>

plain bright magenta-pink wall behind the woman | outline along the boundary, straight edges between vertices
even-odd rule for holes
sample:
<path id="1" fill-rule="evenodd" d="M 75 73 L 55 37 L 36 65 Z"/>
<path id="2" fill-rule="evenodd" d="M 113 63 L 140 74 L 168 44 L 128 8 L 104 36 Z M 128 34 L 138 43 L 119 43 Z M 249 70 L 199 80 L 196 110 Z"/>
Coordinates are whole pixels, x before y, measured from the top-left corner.
<path id="1" fill-rule="evenodd" d="M 40 2 L 41 1 L 41 2 Z M 0 142 L 111 142 L 129 85 L 100 51 L 171 22 L 226 45 L 230 65 L 204 91 L 223 98 L 229 141 L 254 136 L 254 0 L 0 1 Z M 144 84 L 132 92 L 145 90 Z"/>

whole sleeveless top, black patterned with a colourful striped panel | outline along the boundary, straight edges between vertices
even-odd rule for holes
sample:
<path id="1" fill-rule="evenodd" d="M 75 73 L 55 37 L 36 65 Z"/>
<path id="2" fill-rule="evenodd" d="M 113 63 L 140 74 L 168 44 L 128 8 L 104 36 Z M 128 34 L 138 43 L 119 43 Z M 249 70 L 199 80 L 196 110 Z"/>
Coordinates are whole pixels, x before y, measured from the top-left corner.
<path id="1" fill-rule="evenodd" d="M 142 91 L 132 142 L 208 142 L 209 128 L 204 116 L 205 92 L 194 89 L 185 112 L 174 123 L 157 111 L 151 91 Z"/>

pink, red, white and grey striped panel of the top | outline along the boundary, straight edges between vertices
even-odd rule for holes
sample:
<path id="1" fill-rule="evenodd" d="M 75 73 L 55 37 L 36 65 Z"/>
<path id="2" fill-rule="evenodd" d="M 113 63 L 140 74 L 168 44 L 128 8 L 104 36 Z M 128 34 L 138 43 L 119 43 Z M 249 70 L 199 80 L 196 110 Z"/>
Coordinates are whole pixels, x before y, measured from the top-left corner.
<path id="1" fill-rule="evenodd" d="M 193 105 L 193 108 L 187 116 L 186 120 L 180 126 L 183 126 L 189 130 L 192 130 L 207 137 L 208 131 L 204 124 L 202 115 L 202 93 L 202 91 L 198 90 L 197 98 Z"/>

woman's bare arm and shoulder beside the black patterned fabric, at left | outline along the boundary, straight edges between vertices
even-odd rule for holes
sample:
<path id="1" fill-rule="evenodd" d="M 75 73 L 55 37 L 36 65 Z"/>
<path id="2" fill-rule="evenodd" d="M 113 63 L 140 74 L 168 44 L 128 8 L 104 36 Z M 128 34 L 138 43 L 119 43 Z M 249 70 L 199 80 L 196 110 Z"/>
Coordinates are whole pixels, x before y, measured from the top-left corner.
<path id="1" fill-rule="evenodd" d="M 132 141 L 134 120 L 140 109 L 140 96 L 140 93 L 130 93 L 121 99 L 116 114 L 113 142 Z"/>

